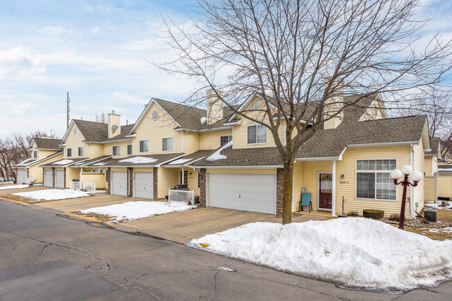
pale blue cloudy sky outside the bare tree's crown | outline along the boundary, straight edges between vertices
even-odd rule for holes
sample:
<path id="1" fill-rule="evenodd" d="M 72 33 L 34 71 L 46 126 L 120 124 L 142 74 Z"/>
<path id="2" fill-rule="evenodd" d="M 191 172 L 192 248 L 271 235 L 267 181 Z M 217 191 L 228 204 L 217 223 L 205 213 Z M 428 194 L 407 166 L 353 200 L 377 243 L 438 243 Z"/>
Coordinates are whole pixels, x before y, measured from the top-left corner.
<path id="1" fill-rule="evenodd" d="M 185 99 L 195 83 L 161 74 L 146 59 L 170 55 L 158 36 L 160 12 L 184 24 L 191 3 L 0 0 L 0 138 L 32 129 L 63 136 L 67 91 L 71 117 L 115 110 L 123 123 L 152 97 Z M 452 33 L 450 1 L 423 14 L 437 14 L 426 31 Z"/>

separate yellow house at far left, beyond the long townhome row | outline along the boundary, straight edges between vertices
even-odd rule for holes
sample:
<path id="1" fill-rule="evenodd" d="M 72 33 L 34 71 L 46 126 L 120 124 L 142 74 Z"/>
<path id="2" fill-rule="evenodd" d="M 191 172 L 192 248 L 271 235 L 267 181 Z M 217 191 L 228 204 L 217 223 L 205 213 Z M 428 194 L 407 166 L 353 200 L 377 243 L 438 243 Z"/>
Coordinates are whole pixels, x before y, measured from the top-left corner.
<path id="1" fill-rule="evenodd" d="M 39 164 L 45 164 L 62 158 L 63 152 L 58 146 L 59 144 L 59 139 L 34 137 L 29 147 L 31 157 L 13 166 L 17 170 L 17 183 L 29 184 L 31 181 L 42 183 L 44 177 Z"/>

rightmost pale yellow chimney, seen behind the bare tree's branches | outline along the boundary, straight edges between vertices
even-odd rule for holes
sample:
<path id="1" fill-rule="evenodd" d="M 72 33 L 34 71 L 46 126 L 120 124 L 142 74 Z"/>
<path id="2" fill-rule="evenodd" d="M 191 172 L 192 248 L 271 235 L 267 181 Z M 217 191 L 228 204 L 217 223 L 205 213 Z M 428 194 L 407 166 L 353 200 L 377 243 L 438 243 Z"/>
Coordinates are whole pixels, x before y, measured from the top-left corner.
<path id="1" fill-rule="evenodd" d="M 325 86 L 328 86 L 328 81 Z M 324 114 L 325 119 L 328 117 L 331 118 L 329 120 L 325 120 L 325 124 L 323 126 L 324 129 L 336 129 L 344 120 L 344 111 L 340 111 L 340 113 L 337 114 L 337 112 L 344 106 L 344 85 L 342 83 L 337 83 L 337 81 L 334 81 L 331 89 L 333 91 L 332 96 L 325 102 Z"/>

